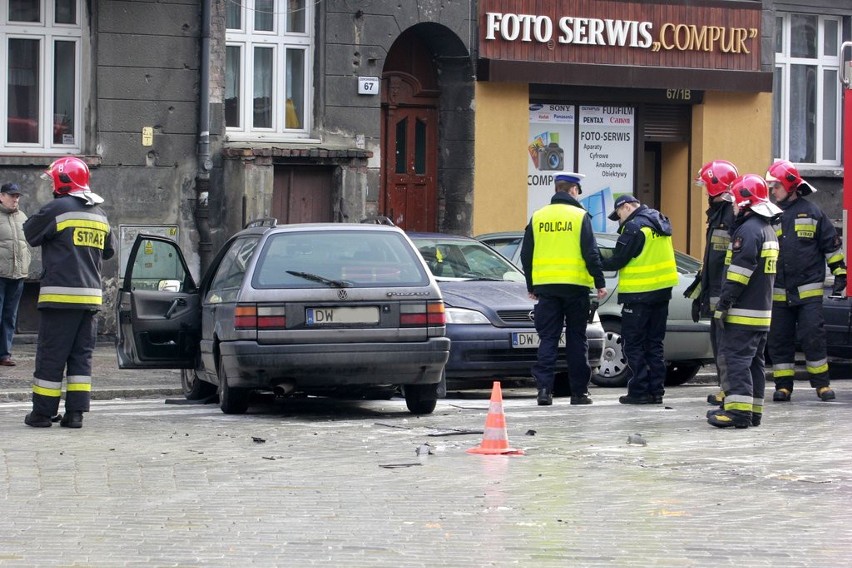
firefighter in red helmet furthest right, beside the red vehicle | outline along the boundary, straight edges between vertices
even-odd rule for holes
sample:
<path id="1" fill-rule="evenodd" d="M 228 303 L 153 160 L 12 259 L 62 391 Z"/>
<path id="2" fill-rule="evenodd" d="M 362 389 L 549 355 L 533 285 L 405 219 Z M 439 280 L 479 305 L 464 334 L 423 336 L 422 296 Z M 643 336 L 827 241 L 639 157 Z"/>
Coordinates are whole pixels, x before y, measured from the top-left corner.
<path id="1" fill-rule="evenodd" d="M 797 336 L 811 386 L 821 400 L 834 400 L 828 378 L 822 294 L 826 264 L 834 274 L 834 293 L 846 289 L 842 241 L 825 213 L 805 199 L 816 189 L 802 179 L 793 164 L 786 160 L 775 162 L 769 166 L 766 181 L 784 211 L 775 224 L 781 254 L 769 331 L 769 357 L 775 380 L 772 400 L 786 402 L 793 394 Z"/>

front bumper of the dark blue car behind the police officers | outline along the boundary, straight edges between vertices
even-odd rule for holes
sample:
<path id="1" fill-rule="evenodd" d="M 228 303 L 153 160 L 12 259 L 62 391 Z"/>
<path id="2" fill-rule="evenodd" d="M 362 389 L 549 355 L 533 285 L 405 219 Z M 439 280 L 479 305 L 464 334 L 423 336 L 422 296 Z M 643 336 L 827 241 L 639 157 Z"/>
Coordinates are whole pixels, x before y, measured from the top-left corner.
<path id="1" fill-rule="evenodd" d="M 476 329 L 473 329 L 476 328 Z M 479 325 L 448 325 L 452 341 L 447 361 L 448 379 L 497 377 L 529 377 L 536 362 L 535 348 L 512 348 L 513 332 L 531 332 L 526 328 L 494 328 Z M 603 328 L 590 325 L 586 329 L 589 343 L 589 365 L 600 365 L 604 347 Z M 565 357 L 559 357 L 557 371 L 567 369 Z"/>

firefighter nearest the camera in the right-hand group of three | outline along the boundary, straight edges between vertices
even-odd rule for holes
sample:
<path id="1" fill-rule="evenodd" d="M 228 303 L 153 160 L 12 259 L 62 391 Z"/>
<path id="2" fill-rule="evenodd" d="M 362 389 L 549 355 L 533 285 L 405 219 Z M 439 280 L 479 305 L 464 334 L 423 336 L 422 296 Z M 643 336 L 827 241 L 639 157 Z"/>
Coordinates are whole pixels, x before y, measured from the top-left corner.
<path id="1" fill-rule="evenodd" d="M 769 202 L 766 182 L 756 174 L 734 180 L 730 196 L 736 218 L 714 314 L 722 328 L 716 365 L 725 388 L 724 407 L 709 411 L 707 422 L 748 428 L 759 426 L 763 417 L 763 357 L 778 259 L 771 220 L 781 210 Z"/>

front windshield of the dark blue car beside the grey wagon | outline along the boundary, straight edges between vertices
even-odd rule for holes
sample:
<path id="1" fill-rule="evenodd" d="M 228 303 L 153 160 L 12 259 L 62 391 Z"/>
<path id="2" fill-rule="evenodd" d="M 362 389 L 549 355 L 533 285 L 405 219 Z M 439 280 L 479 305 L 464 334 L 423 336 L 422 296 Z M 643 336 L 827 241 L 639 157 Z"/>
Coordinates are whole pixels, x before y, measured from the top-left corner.
<path id="1" fill-rule="evenodd" d="M 491 248 L 473 239 L 412 238 L 438 280 L 524 282 L 523 273 Z"/>

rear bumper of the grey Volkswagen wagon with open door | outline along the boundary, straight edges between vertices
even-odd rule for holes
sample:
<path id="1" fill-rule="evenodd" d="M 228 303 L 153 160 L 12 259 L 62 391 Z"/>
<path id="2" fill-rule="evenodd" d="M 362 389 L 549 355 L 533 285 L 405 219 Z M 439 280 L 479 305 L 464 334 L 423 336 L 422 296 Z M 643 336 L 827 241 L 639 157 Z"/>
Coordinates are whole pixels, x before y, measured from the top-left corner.
<path id="1" fill-rule="evenodd" d="M 228 385 L 236 388 L 434 384 L 441 380 L 450 340 L 322 345 L 228 341 L 219 350 Z"/>

